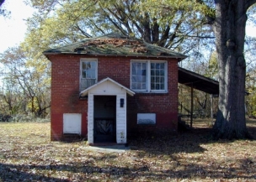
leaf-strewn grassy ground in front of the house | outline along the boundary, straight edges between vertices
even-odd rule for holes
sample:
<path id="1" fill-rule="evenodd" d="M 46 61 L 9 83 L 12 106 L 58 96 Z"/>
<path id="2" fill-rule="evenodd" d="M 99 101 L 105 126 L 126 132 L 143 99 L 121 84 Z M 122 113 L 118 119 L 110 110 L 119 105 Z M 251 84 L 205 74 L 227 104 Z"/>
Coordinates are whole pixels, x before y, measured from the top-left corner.
<path id="1" fill-rule="evenodd" d="M 256 181 L 256 141 L 214 142 L 205 126 L 107 153 L 50 142 L 50 123 L 0 122 L 0 181 Z M 248 126 L 255 138 L 256 122 Z"/>

